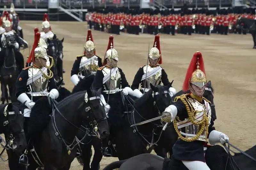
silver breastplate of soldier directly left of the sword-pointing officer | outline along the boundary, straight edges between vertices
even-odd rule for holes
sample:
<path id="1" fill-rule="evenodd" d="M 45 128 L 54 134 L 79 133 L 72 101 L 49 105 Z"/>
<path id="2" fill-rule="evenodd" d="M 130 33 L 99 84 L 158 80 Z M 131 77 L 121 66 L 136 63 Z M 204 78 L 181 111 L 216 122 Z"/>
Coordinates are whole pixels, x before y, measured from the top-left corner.
<path id="1" fill-rule="evenodd" d="M 148 69 L 147 69 L 147 67 L 148 67 Z M 144 74 L 146 74 L 154 69 L 156 69 L 156 67 L 150 67 L 149 65 L 143 67 Z M 150 77 L 148 77 L 148 75 L 147 75 L 147 78 L 145 80 L 142 80 L 141 87 L 150 89 L 150 83 L 154 86 L 157 86 L 161 81 L 161 77 L 162 77 L 162 70 L 160 70 L 158 73 L 156 73 Z"/>

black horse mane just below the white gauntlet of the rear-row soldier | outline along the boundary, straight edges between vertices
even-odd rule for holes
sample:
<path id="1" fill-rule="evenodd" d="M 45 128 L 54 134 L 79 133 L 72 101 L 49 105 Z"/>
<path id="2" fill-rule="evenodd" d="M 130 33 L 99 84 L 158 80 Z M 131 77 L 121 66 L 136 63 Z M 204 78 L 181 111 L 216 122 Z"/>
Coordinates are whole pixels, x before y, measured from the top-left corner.
<path id="1" fill-rule="evenodd" d="M 81 79 L 77 85 L 72 89 L 72 94 L 79 92 L 79 91 L 84 91 L 86 89 L 89 89 L 92 85 L 92 82 L 94 80 L 94 75 L 90 74 L 88 76 L 85 76 L 83 79 Z"/>

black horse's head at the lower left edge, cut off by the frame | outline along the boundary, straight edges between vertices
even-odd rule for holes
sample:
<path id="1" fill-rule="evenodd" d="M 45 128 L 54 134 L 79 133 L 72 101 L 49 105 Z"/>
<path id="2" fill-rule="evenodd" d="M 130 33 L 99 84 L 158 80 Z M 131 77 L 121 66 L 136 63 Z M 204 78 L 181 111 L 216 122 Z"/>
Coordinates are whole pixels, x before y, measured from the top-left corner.
<path id="1" fill-rule="evenodd" d="M 22 152 L 26 146 L 24 118 L 19 108 L 12 103 L 0 105 L 0 133 L 4 133 L 6 147 L 12 147 L 16 153 Z"/>

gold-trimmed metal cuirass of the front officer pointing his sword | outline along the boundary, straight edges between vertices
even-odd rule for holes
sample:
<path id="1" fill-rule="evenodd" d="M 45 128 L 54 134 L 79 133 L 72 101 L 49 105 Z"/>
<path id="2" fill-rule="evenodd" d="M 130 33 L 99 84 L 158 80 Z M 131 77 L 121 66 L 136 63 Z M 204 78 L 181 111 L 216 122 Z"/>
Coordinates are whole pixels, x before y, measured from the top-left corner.
<path id="1" fill-rule="evenodd" d="M 203 100 L 204 101 L 204 100 Z M 188 97 L 188 105 L 190 107 L 191 112 L 195 112 L 195 121 L 201 121 L 204 118 L 204 114 L 209 118 L 209 125 L 211 122 L 211 115 L 212 115 L 212 110 L 210 107 L 210 104 L 208 102 L 204 102 L 206 104 L 201 104 L 199 103 L 196 99 Z M 207 106 L 206 106 L 207 105 Z M 190 122 L 189 118 L 185 119 L 181 123 L 177 123 L 178 128 L 181 132 L 181 128 L 185 127 L 185 132 L 181 132 L 182 135 L 186 136 L 186 138 L 193 138 L 196 136 L 197 132 L 200 130 L 200 125 L 195 125 Z M 200 141 L 206 142 L 207 136 L 206 136 L 206 128 L 205 127 L 203 133 L 196 139 Z"/>

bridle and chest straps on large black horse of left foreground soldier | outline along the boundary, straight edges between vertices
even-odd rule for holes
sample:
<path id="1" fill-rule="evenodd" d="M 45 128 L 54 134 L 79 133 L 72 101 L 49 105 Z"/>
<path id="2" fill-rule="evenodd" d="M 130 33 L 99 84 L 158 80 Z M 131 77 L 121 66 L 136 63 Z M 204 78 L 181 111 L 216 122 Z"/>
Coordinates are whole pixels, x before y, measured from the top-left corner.
<path id="1" fill-rule="evenodd" d="M 78 107 L 78 110 L 79 108 L 83 107 L 83 111 L 85 109 L 86 112 L 89 112 L 89 116 L 87 117 L 90 117 L 90 115 L 94 115 L 93 113 L 93 107 L 91 108 L 91 105 L 89 106 L 85 106 L 89 101 L 92 101 L 92 100 L 95 100 L 95 99 L 100 99 L 100 96 L 94 96 L 94 97 L 90 97 L 88 98 L 88 94 L 87 92 L 85 93 L 85 96 L 84 96 L 84 102 Z M 70 154 L 71 150 L 73 150 L 75 148 L 76 145 L 78 145 L 79 143 L 81 143 L 81 141 L 84 140 L 84 138 L 89 135 L 87 131 L 84 131 L 82 129 L 80 129 L 79 127 L 77 127 L 76 125 L 72 124 L 68 119 L 66 119 L 62 113 L 60 112 L 60 110 L 57 108 L 56 104 L 57 103 L 55 100 L 52 100 L 50 99 L 50 97 L 48 96 L 48 100 L 50 101 L 51 105 L 52 105 L 52 122 L 53 122 L 53 128 L 54 128 L 54 131 L 55 131 L 55 135 L 63 141 L 63 143 L 65 144 L 67 150 L 68 150 L 68 154 Z M 101 100 L 101 99 L 100 99 Z M 90 104 L 90 102 L 88 103 Z M 73 142 L 70 144 L 68 143 L 60 134 L 60 131 L 58 130 L 58 127 L 57 127 L 57 124 L 56 124 L 56 121 L 55 121 L 55 110 L 61 115 L 61 117 L 63 117 L 69 124 L 71 124 L 72 126 L 74 126 L 76 129 L 82 131 L 85 133 L 84 137 L 81 139 L 81 140 L 78 140 L 76 137 L 74 138 Z M 95 134 L 96 136 L 96 132 L 98 131 L 98 123 L 103 121 L 103 120 L 106 120 L 107 119 L 107 116 L 105 117 L 101 117 L 99 119 L 96 119 L 93 117 L 92 118 L 92 121 L 89 123 L 92 128 L 93 128 L 93 133 Z M 76 144 L 74 144 L 76 142 Z M 69 144 L 69 145 L 68 145 Z M 71 147 L 73 145 L 73 147 Z M 71 147 L 71 148 L 70 148 Z"/>

